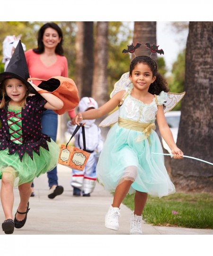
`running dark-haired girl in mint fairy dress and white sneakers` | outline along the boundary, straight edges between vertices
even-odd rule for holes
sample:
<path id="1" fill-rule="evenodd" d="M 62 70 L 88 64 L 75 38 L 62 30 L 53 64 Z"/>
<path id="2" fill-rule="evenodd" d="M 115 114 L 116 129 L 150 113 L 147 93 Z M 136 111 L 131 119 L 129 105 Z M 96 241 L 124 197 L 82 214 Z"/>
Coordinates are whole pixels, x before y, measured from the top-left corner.
<path id="1" fill-rule="evenodd" d="M 118 122 L 107 134 L 97 165 L 98 181 L 106 190 L 115 192 L 105 217 L 105 226 L 114 230 L 119 228 L 120 205 L 127 193 L 135 193 L 129 232 L 141 235 L 147 195 L 160 198 L 175 192 L 163 156 L 152 154 L 163 152 L 154 131 L 155 119 L 174 158 L 182 159 L 183 152 L 175 144 L 165 119 L 163 105 L 169 89 L 157 71 L 156 62 L 149 56 L 135 57 L 130 64 L 128 80 L 126 90 L 118 90 L 97 110 L 78 113 L 75 123 L 79 125 L 82 120 L 100 118 L 119 106 L 116 112 Z M 115 117 L 115 112 L 112 117 Z"/>

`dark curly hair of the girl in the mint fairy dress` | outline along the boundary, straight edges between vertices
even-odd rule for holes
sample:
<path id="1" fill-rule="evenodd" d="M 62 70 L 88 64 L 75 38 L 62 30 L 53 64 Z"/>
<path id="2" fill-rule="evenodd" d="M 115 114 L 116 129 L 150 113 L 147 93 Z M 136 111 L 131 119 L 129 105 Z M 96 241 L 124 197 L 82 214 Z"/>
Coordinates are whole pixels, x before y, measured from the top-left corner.
<path id="1" fill-rule="evenodd" d="M 148 56 L 138 56 L 132 60 L 132 62 L 130 63 L 130 69 L 129 69 L 129 73 L 131 75 L 132 75 L 133 69 L 139 63 L 147 64 L 151 69 L 152 75 L 156 76 L 156 80 L 153 83 L 151 83 L 150 88 L 148 90 L 151 94 L 159 95 L 161 91 L 165 91 L 165 92 L 169 91 L 168 83 L 163 78 L 163 76 L 160 73 L 158 73 L 157 63 Z"/>

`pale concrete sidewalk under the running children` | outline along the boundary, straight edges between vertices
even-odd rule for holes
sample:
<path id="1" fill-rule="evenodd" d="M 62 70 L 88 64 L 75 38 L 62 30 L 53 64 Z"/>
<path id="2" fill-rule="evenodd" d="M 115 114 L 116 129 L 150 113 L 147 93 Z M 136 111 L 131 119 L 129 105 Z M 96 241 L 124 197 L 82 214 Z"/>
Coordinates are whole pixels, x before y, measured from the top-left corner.
<path id="1" fill-rule="evenodd" d="M 35 197 L 29 201 L 30 211 L 27 222 L 22 229 L 15 229 L 15 235 L 128 235 L 131 210 L 124 204 L 121 205 L 119 230 L 107 229 L 104 226 L 105 214 L 112 203 L 113 196 L 97 183 L 91 197 L 73 197 L 71 169 L 58 165 L 59 184 L 64 187 L 64 192 L 54 199 L 49 199 L 47 175 L 43 174 L 34 180 Z M 14 189 L 15 202 L 13 214 L 15 216 L 19 195 Z M 4 214 L 0 209 L 0 221 L 3 222 Z M 0 223 L 1 223 L 0 222 Z M 142 224 L 144 235 L 213 235 L 210 229 L 183 229 L 172 227 L 155 227 L 146 223 Z M 0 229 L 0 235 L 4 234 Z"/>

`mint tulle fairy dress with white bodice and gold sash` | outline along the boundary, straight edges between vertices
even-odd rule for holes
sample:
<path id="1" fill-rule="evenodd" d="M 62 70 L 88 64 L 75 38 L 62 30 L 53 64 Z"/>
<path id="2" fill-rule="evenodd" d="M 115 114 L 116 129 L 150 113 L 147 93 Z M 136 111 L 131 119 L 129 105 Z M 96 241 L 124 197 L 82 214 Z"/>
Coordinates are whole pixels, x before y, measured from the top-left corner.
<path id="1" fill-rule="evenodd" d="M 109 192 L 125 180 L 133 181 L 129 193 L 147 192 L 152 197 L 175 192 L 164 165 L 160 139 L 155 129 L 157 105 L 167 101 L 167 93 L 155 95 L 150 104 L 133 98 L 131 91 L 119 108 L 118 122 L 110 128 L 99 156 L 97 177 Z"/>

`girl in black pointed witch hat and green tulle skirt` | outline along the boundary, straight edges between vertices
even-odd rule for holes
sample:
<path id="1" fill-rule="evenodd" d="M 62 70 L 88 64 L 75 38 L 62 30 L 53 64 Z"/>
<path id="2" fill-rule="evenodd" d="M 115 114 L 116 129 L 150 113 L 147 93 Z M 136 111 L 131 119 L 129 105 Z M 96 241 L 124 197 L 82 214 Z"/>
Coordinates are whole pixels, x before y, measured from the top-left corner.
<path id="1" fill-rule="evenodd" d="M 52 93 L 27 82 L 29 73 L 19 41 L 5 72 L 0 73 L 0 198 L 5 214 L 2 229 L 12 234 L 27 220 L 31 183 L 57 165 L 59 147 L 41 133 L 44 110 L 60 110 L 63 102 Z M 20 203 L 13 219 L 13 187 L 18 186 Z"/>

